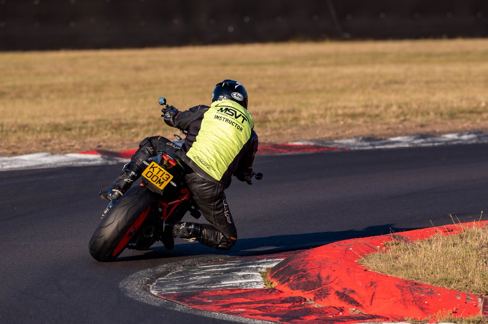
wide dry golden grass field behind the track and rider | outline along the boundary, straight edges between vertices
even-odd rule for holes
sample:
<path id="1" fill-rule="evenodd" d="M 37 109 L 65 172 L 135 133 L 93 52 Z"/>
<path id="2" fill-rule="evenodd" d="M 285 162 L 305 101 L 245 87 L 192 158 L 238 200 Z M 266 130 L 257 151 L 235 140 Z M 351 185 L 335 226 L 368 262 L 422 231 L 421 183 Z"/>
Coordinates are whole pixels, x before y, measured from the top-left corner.
<path id="1" fill-rule="evenodd" d="M 0 156 L 173 138 L 157 101 L 246 86 L 262 142 L 488 131 L 488 39 L 0 52 Z"/>

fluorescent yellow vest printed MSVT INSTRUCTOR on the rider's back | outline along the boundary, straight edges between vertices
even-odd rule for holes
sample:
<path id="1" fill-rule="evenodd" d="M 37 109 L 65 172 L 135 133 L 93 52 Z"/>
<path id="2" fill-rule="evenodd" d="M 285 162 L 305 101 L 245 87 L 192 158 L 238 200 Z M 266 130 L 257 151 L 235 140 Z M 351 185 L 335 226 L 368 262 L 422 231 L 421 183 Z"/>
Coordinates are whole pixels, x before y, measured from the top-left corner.
<path id="1" fill-rule="evenodd" d="M 187 156 L 216 180 L 251 137 L 251 114 L 232 100 L 214 101 L 203 114 L 200 131 Z"/>

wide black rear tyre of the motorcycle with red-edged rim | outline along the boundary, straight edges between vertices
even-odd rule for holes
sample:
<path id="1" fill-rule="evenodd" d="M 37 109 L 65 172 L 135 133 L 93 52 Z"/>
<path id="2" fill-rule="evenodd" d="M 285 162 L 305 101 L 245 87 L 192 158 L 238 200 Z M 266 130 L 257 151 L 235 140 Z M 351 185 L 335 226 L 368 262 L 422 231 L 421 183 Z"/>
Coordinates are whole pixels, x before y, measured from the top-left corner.
<path id="1" fill-rule="evenodd" d="M 101 262 L 114 261 L 140 228 L 155 201 L 154 194 L 145 186 L 130 188 L 93 233 L 88 245 L 91 256 Z"/>

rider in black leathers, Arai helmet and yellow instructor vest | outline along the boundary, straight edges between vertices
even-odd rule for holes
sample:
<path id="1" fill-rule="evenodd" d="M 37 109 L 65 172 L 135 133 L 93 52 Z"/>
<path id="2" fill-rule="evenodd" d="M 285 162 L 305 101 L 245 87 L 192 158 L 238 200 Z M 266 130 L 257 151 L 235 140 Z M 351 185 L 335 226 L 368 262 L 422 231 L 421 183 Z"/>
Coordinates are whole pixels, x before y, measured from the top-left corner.
<path id="1" fill-rule="evenodd" d="M 222 250 L 233 247 L 237 231 L 224 190 L 234 175 L 250 180 L 257 152 L 253 117 L 247 111 L 248 95 L 244 86 L 226 79 L 215 85 L 210 106 L 198 105 L 187 111 L 169 106 L 163 111 L 166 124 L 187 133 L 180 149 L 162 136 L 145 138 L 121 175 L 100 196 L 118 199 L 145 169 L 143 161 L 158 151 L 173 152 L 188 167 L 185 180 L 198 209 L 210 224 L 165 222 L 162 241 L 173 248 L 176 237 Z"/>

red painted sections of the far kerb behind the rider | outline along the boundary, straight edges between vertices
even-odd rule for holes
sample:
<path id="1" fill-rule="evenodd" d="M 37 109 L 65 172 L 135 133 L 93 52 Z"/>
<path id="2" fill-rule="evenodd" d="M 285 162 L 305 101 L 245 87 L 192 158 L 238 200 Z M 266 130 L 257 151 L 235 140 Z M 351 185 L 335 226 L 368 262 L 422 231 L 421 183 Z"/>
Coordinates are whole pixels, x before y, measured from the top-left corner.
<path id="1" fill-rule="evenodd" d="M 299 144 L 260 144 L 258 154 L 277 154 L 277 153 L 303 153 L 303 152 L 320 152 L 320 151 L 340 151 L 346 149 L 323 147 L 318 145 L 299 145 Z M 99 154 L 108 157 L 120 157 L 130 159 L 136 150 L 127 150 L 122 152 L 112 152 L 103 150 L 92 150 L 79 152 L 80 154 Z"/>

